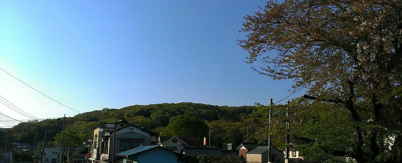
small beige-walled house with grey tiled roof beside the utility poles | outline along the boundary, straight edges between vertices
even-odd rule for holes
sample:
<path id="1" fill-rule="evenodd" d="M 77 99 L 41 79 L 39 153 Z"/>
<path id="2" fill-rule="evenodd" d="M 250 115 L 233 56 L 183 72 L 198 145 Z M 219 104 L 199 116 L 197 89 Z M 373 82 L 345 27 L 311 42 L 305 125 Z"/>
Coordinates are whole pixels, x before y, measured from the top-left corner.
<path id="1" fill-rule="evenodd" d="M 271 150 L 271 156 L 268 155 Z M 285 154 L 276 147 L 256 147 L 246 153 L 247 163 L 268 163 L 268 158 L 271 157 L 271 162 L 285 163 Z"/>

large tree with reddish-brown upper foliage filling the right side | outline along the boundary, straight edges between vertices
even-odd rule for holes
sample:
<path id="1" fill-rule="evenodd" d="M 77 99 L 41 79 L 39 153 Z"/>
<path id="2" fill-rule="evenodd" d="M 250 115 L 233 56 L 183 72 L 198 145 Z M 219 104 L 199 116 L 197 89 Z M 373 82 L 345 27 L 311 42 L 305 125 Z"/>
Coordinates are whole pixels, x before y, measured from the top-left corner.
<path id="1" fill-rule="evenodd" d="M 333 160 L 402 161 L 401 0 L 269 1 L 244 19 L 246 39 L 238 44 L 247 62 L 260 60 L 267 66 L 257 72 L 293 80 L 292 93 L 307 90 L 309 101 L 298 99 L 305 105 L 295 112 L 310 118 L 295 118 L 327 127 L 299 129 L 304 135 L 293 138 Z M 319 120 L 312 109 L 323 113 Z"/>

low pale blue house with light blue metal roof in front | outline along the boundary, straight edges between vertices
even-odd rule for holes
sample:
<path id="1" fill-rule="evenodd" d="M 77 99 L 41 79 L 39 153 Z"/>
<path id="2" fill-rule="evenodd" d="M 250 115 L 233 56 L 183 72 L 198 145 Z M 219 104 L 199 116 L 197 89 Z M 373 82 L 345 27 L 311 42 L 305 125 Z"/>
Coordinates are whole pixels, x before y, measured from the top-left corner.
<path id="1" fill-rule="evenodd" d="M 183 156 L 160 145 L 137 147 L 117 155 L 123 156 L 123 163 L 177 163 Z"/>

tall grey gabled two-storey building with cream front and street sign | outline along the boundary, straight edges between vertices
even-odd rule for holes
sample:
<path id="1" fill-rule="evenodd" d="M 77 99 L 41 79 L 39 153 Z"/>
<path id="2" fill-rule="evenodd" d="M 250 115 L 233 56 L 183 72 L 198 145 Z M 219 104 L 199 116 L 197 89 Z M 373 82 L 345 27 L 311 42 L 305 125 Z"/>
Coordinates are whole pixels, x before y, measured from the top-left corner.
<path id="1" fill-rule="evenodd" d="M 116 154 L 134 149 L 136 147 L 156 145 L 156 137 L 158 134 L 145 128 L 130 124 L 124 120 L 113 124 L 114 127 L 109 128 L 98 127 L 94 130 L 94 138 L 91 149 L 92 163 L 122 163 L 123 159 L 117 160 Z M 102 131 L 103 129 L 103 131 Z M 110 135 L 106 135 L 109 131 Z M 115 158 L 113 158 L 113 154 Z"/>

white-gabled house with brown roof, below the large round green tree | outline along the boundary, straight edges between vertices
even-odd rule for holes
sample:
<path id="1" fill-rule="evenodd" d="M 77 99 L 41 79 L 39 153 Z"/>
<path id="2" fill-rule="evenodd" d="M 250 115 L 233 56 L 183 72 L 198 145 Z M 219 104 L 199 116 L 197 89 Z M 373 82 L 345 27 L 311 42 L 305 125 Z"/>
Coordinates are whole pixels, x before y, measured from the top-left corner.
<path id="1" fill-rule="evenodd" d="M 183 146 L 197 146 L 195 137 L 160 136 L 158 145 L 180 153 Z"/>

